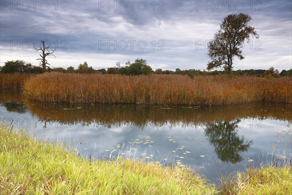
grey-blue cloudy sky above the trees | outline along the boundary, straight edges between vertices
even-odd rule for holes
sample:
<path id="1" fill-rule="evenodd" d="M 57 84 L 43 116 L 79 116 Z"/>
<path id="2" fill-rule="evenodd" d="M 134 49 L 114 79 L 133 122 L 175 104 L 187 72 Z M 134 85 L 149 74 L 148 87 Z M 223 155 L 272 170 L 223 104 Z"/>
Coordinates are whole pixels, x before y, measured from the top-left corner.
<path id="1" fill-rule="evenodd" d="M 38 65 L 34 43 L 55 49 L 51 67 L 95 69 L 146 59 L 152 69 L 206 69 L 206 43 L 229 14 L 252 17 L 259 39 L 234 70 L 292 68 L 291 0 L 0 0 L 0 65 Z"/>

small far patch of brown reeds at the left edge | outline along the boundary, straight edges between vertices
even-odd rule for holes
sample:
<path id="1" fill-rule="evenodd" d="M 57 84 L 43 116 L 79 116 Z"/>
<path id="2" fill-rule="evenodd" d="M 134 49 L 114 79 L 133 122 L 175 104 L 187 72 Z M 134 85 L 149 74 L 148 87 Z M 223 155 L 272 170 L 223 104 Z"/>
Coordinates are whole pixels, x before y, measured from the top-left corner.
<path id="1" fill-rule="evenodd" d="M 27 73 L 13 73 L 3 74 L 0 73 L 0 90 L 2 89 L 22 89 L 23 82 L 31 75 Z"/>

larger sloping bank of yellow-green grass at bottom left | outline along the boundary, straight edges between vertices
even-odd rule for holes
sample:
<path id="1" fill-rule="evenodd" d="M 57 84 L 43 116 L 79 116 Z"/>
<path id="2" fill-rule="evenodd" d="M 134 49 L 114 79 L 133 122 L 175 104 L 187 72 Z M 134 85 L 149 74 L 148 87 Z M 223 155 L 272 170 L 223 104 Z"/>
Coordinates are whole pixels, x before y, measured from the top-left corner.
<path id="1" fill-rule="evenodd" d="M 86 160 L 0 125 L 0 194 L 215 194 L 186 169 Z"/>

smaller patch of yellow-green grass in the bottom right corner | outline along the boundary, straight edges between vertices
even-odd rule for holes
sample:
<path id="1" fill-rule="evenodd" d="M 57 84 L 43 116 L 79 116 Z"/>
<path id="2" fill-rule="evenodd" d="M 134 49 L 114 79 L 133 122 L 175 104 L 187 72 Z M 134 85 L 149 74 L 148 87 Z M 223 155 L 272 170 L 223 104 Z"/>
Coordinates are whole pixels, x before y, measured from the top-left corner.
<path id="1" fill-rule="evenodd" d="M 244 173 L 222 177 L 220 187 L 223 195 L 289 195 L 292 192 L 292 167 L 248 168 Z"/>

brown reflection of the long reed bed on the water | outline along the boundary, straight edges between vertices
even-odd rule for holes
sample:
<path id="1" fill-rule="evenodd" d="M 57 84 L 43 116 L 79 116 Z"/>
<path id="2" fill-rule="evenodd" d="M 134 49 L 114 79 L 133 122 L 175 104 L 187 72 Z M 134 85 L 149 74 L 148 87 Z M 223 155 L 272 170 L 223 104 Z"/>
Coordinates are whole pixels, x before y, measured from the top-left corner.
<path id="1" fill-rule="evenodd" d="M 292 109 L 282 104 L 250 104 L 241 106 L 212 107 L 148 107 L 135 105 L 112 104 L 54 104 L 25 103 L 34 117 L 41 120 L 59 122 L 61 124 L 96 124 L 107 128 L 147 125 L 156 127 L 180 126 L 182 128 L 206 126 L 218 120 L 237 118 L 256 118 L 291 120 Z"/>

